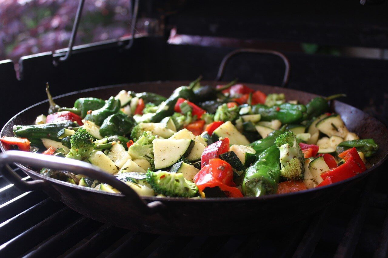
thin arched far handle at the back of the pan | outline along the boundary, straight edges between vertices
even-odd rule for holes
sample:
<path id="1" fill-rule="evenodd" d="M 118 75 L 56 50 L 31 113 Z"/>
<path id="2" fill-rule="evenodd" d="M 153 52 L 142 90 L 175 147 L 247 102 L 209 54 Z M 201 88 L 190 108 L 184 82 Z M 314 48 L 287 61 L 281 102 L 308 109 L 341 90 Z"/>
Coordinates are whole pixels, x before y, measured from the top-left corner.
<path id="1" fill-rule="evenodd" d="M 225 71 L 225 65 L 230 60 L 230 58 L 234 55 L 241 54 L 241 53 L 258 53 L 258 54 L 269 54 L 269 55 L 276 55 L 280 58 L 282 58 L 285 68 L 284 68 L 284 76 L 283 76 L 283 82 L 282 87 L 285 87 L 288 83 L 288 77 L 289 77 L 289 71 L 290 71 L 290 63 L 288 58 L 283 55 L 280 52 L 274 51 L 274 50 L 261 50 L 261 49 L 251 49 L 251 48 L 241 48 L 234 50 L 230 52 L 229 54 L 225 55 L 225 57 L 222 59 L 220 68 L 218 69 L 216 81 L 220 81 L 220 79 L 223 76 L 223 72 Z"/>

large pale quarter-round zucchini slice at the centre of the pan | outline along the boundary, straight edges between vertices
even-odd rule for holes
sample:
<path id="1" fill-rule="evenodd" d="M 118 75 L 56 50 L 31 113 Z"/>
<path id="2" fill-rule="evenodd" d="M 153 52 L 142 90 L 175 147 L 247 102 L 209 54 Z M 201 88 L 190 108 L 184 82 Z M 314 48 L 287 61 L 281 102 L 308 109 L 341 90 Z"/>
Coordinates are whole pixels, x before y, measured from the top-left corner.
<path id="1" fill-rule="evenodd" d="M 155 169 L 165 169 L 177 163 L 182 157 L 187 157 L 194 146 L 194 140 L 155 139 L 152 144 Z"/>

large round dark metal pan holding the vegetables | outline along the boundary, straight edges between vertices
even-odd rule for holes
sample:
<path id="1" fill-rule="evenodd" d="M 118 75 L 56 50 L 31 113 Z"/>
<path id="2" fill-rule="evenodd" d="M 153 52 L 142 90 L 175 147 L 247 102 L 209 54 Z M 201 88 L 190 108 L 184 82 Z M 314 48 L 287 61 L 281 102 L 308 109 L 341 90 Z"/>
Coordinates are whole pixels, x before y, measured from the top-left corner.
<path id="1" fill-rule="evenodd" d="M 136 92 L 152 91 L 168 96 L 187 81 L 122 84 L 88 89 L 69 93 L 56 98 L 62 106 L 70 106 L 77 98 L 94 96 L 106 99 L 116 95 L 121 89 Z M 216 85 L 217 82 L 203 82 Z M 258 84 L 246 84 L 264 93 L 284 92 L 289 100 L 306 103 L 316 95 L 292 89 Z M 33 105 L 15 115 L 3 127 L 0 136 L 12 136 L 15 124 L 33 124 L 36 115 L 47 112 L 47 101 Z M 373 138 L 380 148 L 376 156 L 369 159 L 369 169 L 362 174 L 342 182 L 309 189 L 298 193 L 268 195 L 259 198 L 209 198 L 192 200 L 184 198 L 139 197 L 132 189 L 113 177 L 104 174 L 88 163 L 65 160 L 22 151 L 7 151 L 1 146 L 0 164 L 3 175 L 17 187 L 26 190 L 41 189 L 54 200 L 61 200 L 73 210 L 117 227 L 135 229 L 155 234 L 173 235 L 229 235 L 263 230 L 264 226 L 288 224 L 308 218 L 309 215 L 326 207 L 346 189 L 376 170 L 387 158 L 388 130 L 375 118 L 361 110 L 339 101 L 333 101 L 331 108 L 341 115 L 350 131 L 360 138 Z M 34 181 L 21 181 L 20 177 L 9 170 L 7 163 L 16 165 L 31 176 Z M 24 165 L 21 165 L 24 164 Z M 105 193 L 94 189 L 76 186 L 40 175 L 25 165 L 66 169 L 90 175 L 107 182 L 123 194 Z"/>

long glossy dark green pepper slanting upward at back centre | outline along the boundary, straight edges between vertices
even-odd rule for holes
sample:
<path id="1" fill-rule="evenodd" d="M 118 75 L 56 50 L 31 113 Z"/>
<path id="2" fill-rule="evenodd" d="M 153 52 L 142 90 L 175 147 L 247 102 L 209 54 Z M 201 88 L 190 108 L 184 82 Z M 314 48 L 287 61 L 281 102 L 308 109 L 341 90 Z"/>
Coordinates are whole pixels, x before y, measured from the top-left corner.
<path id="1" fill-rule="evenodd" d="M 190 87 L 180 86 L 175 89 L 172 95 L 165 101 L 163 101 L 156 113 L 152 115 L 151 122 L 160 122 L 163 118 L 168 117 L 174 113 L 174 106 L 177 103 L 178 98 L 184 98 L 185 100 L 191 100 L 194 98 L 194 92 Z"/>

